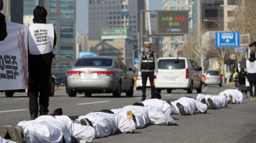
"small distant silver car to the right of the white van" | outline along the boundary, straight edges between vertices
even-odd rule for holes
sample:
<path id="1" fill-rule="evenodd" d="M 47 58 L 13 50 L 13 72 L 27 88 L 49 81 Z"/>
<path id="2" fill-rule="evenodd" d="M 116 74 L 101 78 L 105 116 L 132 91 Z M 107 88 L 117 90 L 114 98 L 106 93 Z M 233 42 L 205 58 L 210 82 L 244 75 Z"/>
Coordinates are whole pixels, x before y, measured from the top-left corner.
<path id="1" fill-rule="evenodd" d="M 204 86 L 219 85 L 222 86 L 222 75 L 219 70 L 207 70 L 205 73 Z"/>

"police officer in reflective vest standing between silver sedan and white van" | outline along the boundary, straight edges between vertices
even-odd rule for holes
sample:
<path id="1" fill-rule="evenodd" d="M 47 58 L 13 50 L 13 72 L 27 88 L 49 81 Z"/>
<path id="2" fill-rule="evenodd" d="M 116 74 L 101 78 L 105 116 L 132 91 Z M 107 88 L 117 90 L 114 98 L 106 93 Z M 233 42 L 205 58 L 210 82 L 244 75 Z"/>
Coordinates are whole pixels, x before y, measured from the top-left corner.
<path id="1" fill-rule="evenodd" d="M 138 75 L 142 76 L 142 101 L 145 100 L 145 90 L 147 85 L 147 78 L 150 81 L 151 96 L 155 93 L 154 78 L 157 76 L 157 57 L 154 52 L 150 50 L 150 42 L 144 42 L 144 52 L 139 55 Z"/>

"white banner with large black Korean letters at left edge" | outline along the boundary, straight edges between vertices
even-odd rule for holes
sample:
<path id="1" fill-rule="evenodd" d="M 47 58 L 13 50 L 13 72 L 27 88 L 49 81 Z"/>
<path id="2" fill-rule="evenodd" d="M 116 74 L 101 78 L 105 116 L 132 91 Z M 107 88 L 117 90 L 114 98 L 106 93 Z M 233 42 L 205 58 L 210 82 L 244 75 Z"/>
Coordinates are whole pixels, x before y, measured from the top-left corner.
<path id="1" fill-rule="evenodd" d="M 28 26 L 6 22 L 7 37 L 0 41 L 0 90 L 28 88 Z"/>

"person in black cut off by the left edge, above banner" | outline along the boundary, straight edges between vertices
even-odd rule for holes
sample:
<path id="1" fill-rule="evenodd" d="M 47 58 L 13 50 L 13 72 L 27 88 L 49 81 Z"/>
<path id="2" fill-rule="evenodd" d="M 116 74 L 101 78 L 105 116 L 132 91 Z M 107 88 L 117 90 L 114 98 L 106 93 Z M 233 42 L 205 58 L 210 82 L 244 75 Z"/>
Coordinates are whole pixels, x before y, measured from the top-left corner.
<path id="1" fill-rule="evenodd" d="M 4 2 L 0 0 L 0 11 L 4 8 Z M 6 32 L 6 17 L 4 14 L 0 12 L 0 41 L 6 39 L 7 32 Z"/>

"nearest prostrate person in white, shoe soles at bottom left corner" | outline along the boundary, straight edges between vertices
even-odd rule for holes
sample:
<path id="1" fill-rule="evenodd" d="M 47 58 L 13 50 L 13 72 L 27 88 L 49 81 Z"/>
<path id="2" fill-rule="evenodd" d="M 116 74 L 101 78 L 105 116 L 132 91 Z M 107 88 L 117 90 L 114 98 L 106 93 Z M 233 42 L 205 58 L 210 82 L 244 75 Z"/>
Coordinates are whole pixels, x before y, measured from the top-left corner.
<path id="1" fill-rule="evenodd" d="M 95 130 L 91 126 L 82 126 L 62 115 L 62 109 L 56 109 L 52 115 L 40 116 L 33 121 L 21 121 L 16 127 L 1 129 L 1 137 L 17 143 L 22 142 L 91 142 Z"/>

